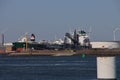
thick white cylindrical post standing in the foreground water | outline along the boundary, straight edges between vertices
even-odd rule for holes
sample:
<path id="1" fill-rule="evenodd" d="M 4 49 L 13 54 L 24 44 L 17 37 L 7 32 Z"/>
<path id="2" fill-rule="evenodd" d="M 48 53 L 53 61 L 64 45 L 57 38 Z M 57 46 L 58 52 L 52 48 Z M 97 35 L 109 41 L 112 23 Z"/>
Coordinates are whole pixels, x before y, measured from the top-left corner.
<path id="1" fill-rule="evenodd" d="M 98 80 L 117 80 L 115 56 L 97 57 L 97 79 Z"/>

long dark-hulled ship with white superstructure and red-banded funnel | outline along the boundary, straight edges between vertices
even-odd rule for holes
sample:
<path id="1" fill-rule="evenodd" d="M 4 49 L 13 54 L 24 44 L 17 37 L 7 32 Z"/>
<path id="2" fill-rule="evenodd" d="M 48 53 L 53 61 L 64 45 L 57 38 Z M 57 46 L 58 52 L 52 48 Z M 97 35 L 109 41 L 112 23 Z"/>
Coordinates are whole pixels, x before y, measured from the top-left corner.
<path id="1" fill-rule="evenodd" d="M 13 42 L 14 51 L 27 50 L 80 50 L 83 48 L 91 48 L 88 34 L 84 30 L 74 30 L 73 33 L 66 33 L 64 39 L 53 42 L 45 41 L 36 42 L 35 35 L 28 36 L 25 34 L 20 37 L 18 42 Z"/>

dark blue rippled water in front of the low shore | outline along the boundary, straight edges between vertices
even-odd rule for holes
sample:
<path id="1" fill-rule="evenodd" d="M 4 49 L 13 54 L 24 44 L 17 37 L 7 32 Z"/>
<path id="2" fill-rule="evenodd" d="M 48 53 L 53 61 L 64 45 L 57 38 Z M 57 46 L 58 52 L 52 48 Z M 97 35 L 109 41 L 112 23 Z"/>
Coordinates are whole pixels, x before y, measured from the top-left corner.
<path id="1" fill-rule="evenodd" d="M 120 79 L 117 57 L 117 77 Z M 97 80 L 96 57 L 0 56 L 0 80 Z"/>

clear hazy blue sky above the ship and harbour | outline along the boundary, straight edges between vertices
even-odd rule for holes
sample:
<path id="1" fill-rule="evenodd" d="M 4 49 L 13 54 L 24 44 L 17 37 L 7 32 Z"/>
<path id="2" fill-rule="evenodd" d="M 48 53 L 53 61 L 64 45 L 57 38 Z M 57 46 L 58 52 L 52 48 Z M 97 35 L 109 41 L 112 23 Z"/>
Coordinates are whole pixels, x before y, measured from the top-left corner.
<path id="1" fill-rule="evenodd" d="M 120 27 L 119 5 L 119 0 L 0 0 L 0 33 L 5 42 L 17 41 L 26 32 L 40 41 L 81 29 L 90 32 L 91 41 L 112 41 Z"/>

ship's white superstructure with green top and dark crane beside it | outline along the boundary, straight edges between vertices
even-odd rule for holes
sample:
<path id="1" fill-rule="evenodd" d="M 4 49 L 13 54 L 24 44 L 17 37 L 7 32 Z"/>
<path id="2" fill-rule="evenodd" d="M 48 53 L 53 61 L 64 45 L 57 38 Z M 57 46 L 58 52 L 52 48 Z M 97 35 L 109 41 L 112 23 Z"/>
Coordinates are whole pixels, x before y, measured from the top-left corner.
<path id="1" fill-rule="evenodd" d="M 90 47 L 90 40 L 89 36 L 87 33 L 83 30 L 75 30 L 73 34 L 66 33 L 65 39 L 64 39 L 65 44 L 73 44 L 81 47 Z"/>

